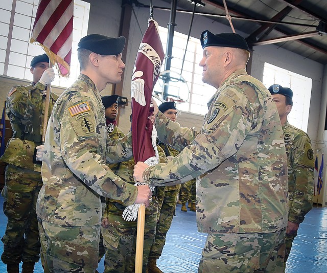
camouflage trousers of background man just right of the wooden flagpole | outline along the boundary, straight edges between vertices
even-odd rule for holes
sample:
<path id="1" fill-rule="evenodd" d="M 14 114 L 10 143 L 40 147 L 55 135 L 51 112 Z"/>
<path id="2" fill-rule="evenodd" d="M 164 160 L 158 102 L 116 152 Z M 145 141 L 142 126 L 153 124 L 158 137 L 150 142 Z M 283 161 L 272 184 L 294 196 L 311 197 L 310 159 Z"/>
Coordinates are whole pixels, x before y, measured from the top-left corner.
<path id="1" fill-rule="evenodd" d="M 178 191 L 178 189 L 165 191 L 164 187 L 158 187 L 159 219 L 149 258 L 158 259 L 161 256 L 166 242 L 166 235 L 175 214 Z"/>

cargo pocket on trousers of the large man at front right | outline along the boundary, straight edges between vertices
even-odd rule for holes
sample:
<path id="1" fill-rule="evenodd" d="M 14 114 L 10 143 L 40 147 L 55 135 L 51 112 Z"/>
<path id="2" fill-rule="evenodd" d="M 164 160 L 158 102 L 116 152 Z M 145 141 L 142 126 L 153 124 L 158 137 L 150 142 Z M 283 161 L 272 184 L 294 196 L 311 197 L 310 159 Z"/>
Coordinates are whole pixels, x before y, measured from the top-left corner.
<path id="1" fill-rule="evenodd" d="M 260 252 L 251 250 L 236 256 L 203 260 L 202 273 L 253 272 L 260 267 Z"/>

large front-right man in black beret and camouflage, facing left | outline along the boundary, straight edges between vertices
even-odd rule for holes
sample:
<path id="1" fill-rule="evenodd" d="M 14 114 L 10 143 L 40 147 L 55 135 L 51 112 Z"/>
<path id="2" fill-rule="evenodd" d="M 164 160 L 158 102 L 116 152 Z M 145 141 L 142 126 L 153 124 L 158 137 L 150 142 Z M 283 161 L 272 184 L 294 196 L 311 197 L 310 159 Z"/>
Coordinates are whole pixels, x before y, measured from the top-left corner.
<path id="1" fill-rule="evenodd" d="M 269 91 L 246 73 L 235 33 L 201 34 L 202 81 L 217 88 L 201 131 L 156 115 L 160 141 L 183 150 L 167 164 L 137 163 L 134 179 L 176 185 L 197 178 L 199 272 L 283 272 L 288 219 L 283 130 Z"/>

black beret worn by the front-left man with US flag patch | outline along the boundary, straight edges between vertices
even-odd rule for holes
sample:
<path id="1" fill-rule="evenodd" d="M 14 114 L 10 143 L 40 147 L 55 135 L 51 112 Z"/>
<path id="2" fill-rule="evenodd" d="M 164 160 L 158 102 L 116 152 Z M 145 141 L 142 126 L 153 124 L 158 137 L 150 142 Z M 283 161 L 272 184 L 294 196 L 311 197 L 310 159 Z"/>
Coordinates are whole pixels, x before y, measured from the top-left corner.
<path id="1" fill-rule="evenodd" d="M 101 34 L 89 34 L 79 41 L 78 47 L 101 55 L 118 55 L 125 47 L 125 37 L 112 38 Z"/>

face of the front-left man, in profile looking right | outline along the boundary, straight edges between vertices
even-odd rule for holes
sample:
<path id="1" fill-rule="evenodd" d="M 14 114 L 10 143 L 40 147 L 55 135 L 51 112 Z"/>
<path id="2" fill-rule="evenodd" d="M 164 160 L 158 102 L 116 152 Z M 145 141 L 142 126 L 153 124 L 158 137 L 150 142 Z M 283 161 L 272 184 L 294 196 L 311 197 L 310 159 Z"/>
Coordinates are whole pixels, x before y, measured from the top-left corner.
<path id="1" fill-rule="evenodd" d="M 122 80 L 125 63 L 122 54 L 99 57 L 99 76 L 108 83 L 119 83 Z"/>

